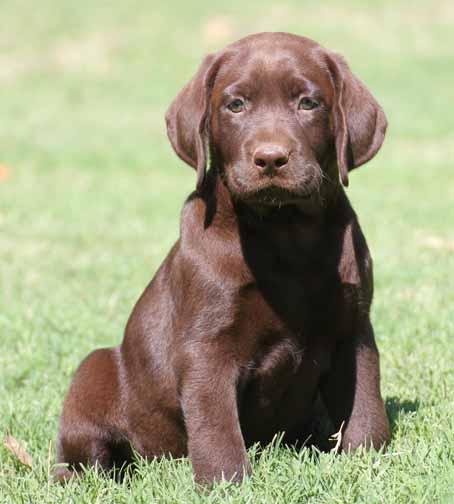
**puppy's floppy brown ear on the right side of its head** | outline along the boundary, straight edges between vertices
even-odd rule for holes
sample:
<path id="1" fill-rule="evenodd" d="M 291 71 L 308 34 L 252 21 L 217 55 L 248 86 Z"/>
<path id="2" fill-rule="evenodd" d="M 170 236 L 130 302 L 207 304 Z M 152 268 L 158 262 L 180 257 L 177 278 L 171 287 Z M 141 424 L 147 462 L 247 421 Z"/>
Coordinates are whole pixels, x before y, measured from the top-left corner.
<path id="1" fill-rule="evenodd" d="M 367 163 L 382 146 L 388 122 L 342 56 L 330 53 L 328 67 L 336 95 L 333 112 L 337 163 L 342 183 L 348 186 L 348 172 Z"/>

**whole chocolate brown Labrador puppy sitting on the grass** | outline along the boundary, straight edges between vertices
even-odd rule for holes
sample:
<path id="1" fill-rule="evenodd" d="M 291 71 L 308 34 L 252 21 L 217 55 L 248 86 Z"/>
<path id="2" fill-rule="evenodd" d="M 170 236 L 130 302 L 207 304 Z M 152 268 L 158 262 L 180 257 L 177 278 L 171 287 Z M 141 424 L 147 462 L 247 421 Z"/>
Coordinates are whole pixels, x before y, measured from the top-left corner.
<path id="1" fill-rule="evenodd" d="M 57 476 L 133 447 L 240 480 L 246 447 L 304 439 L 318 399 L 342 449 L 380 447 L 372 264 L 342 185 L 381 147 L 382 109 L 340 56 L 261 33 L 205 58 L 166 119 L 197 190 L 122 344 L 74 377 Z"/>

